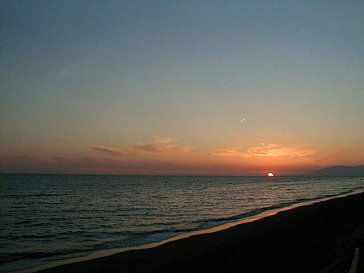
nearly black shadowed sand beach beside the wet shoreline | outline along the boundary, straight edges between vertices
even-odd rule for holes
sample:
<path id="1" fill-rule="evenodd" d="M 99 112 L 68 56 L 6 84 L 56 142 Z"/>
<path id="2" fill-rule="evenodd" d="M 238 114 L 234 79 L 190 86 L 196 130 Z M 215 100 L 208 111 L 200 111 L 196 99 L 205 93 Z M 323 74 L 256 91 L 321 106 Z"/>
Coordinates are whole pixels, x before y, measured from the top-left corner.
<path id="1" fill-rule="evenodd" d="M 349 272 L 364 260 L 364 193 L 256 222 L 42 272 Z"/>

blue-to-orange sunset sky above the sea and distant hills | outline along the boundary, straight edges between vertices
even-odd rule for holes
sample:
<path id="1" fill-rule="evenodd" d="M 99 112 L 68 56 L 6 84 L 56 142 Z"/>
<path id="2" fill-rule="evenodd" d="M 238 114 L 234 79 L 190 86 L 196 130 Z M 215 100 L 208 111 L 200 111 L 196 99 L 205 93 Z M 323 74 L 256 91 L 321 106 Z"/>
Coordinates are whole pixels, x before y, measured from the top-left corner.
<path id="1" fill-rule="evenodd" d="M 364 164 L 361 0 L 0 5 L 2 172 Z"/>

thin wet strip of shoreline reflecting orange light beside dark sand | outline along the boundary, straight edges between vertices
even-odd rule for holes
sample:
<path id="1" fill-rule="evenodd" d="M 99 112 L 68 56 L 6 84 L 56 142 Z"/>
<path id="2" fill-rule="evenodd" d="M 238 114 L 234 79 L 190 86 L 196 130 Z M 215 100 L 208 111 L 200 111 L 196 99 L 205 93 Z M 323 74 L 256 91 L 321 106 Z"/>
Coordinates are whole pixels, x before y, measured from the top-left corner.
<path id="1" fill-rule="evenodd" d="M 274 218 L 276 218 L 282 214 L 285 214 L 285 213 L 294 214 L 294 211 L 296 211 L 297 209 L 300 209 L 300 208 L 302 209 L 302 208 L 307 208 L 310 206 L 314 207 L 317 204 L 340 200 L 340 199 L 348 198 L 348 197 L 350 198 L 350 197 L 354 197 L 354 196 L 364 196 L 363 190 L 356 190 L 354 192 L 349 192 L 349 193 L 341 194 L 341 195 L 334 196 L 334 197 L 315 199 L 315 200 L 306 201 L 306 202 L 302 202 L 302 203 L 296 203 L 296 204 L 290 205 L 288 207 L 267 210 L 258 215 L 247 217 L 243 220 L 225 223 L 223 225 L 219 225 L 219 226 L 212 227 L 212 228 L 205 229 L 205 230 L 183 233 L 183 234 L 177 235 L 175 237 L 172 237 L 172 238 L 169 238 L 167 240 L 163 240 L 163 241 L 157 242 L 157 243 L 151 243 L 151 244 L 130 247 L 130 248 L 97 251 L 97 252 L 90 253 L 87 256 L 57 261 L 54 263 L 37 266 L 37 267 L 34 267 L 29 270 L 25 270 L 25 271 L 23 270 L 21 272 L 27 272 L 27 273 L 31 273 L 31 272 L 67 272 L 69 270 L 63 271 L 63 269 L 69 268 L 69 267 L 72 268 L 75 265 L 77 265 L 77 267 L 82 265 L 81 268 L 77 269 L 77 271 L 79 271 L 79 272 L 102 272 L 102 270 L 89 271 L 90 268 L 87 269 L 87 267 L 89 267 L 87 264 L 93 264 L 95 262 L 97 264 L 110 263 L 109 260 L 113 260 L 112 263 L 117 263 L 115 261 L 115 259 L 116 259 L 116 257 L 119 257 L 119 256 L 130 256 L 131 253 L 140 254 L 143 252 L 155 252 L 155 251 L 158 252 L 158 249 L 166 248 L 166 247 L 169 248 L 170 245 L 180 245 L 186 241 L 199 240 L 199 238 L 206 237 L 206 236 L 212 236 L 212 237 L 215 235 L 218 236 L 220 233 L 226 233 L 226 232 L 229 232 L 229 231 L 232 231 L 235 229 L 239 229 L 240 227 L 246 227 L 251 224 L 264 221 L 266 219 L 274 220 Z M 139 254 L 137 254 L 137 255 L 139 255 Z M 173 258 L 170 258 L 170 259 L 173 260 Z M 124 265 L 121 265 L 121 268 L 119 269 L 119 271 L 121 270 L 120 272 L 123 272 L 122 268 L 124 268 Z M 137 271 L 137 272 L 144 272 L 144 271 L 140 271 L 141 270 L 140 268 L 138 270 L 139 271 Z M 110 270 L 108 270 L 108 271 L 114 272 L 114 271 L 110 271 Z M 115 271 L 115 272 L 119 272 L 119 271 Z M 134 272 L 134 271 L 128 271 L 128 272 Z M 146 272 L 154 272 L 154 271 L 147 270 Z M 158 271 L 155 271 L 155 272 L 158 272 Z M 218 271 L 216 271 L 216 272 L 218 272 Z"/>

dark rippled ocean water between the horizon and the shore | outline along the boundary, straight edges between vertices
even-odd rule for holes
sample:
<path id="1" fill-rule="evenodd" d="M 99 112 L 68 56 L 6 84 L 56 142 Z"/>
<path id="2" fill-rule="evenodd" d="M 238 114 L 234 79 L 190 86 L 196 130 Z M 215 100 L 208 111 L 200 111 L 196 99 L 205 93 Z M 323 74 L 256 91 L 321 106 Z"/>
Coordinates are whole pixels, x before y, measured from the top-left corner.
<path id="1" fill-rule="evenodd" d="M 3 174 L 0 272 L 160 242 L 358 190 L 363 178 Z"/>

